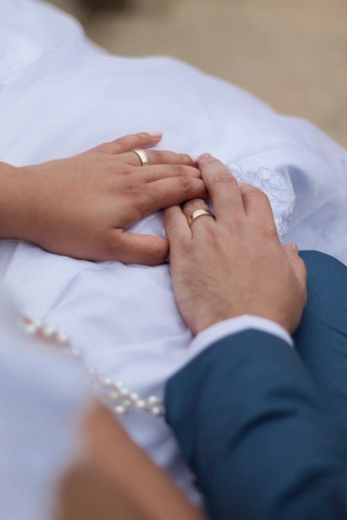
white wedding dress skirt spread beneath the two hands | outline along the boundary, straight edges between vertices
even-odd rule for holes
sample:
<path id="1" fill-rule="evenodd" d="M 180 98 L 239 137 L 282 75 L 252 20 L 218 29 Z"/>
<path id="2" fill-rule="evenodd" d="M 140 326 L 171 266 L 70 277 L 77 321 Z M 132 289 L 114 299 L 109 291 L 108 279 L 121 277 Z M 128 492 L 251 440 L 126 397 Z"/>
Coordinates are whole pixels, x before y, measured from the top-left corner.
<path id="1" fill-rule="evenodd" d="M 300 248 L 347 261 L 347 154 L 326 135 L 177 60 L 103 53 L 44 3 L 0 0 L 1 161 L 68 157 L 143 130 L 164 132 L 160 148 L 232 165 L 268 193 L 281 238 L 289 225 Z M 133 231 L 161 235 L 160 214 Z M 57 324 L 88 365 L 139 395 L 162 397 L 192 356 L 167 265 L 78 261 L 2 241 L 0 279 L 24 313 Z M 164 421 L 132 412 L 124 425 L 196 498 Z"/>

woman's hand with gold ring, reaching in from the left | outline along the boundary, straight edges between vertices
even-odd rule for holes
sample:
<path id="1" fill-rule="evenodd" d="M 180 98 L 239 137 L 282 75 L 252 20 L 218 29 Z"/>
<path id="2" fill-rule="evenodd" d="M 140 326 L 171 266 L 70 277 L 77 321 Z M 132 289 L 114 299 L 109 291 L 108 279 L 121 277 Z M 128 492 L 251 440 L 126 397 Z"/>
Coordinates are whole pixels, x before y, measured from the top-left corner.
<path id="1" fill-rule="evenodd" d="M 7 236 L 56 254 L 90 260 L 155 265 L 167 240 L 125 232 L 153 211 L 202 197 L 205 184 L 189 155 L 148 150 L 141 167 L 134 148 L 158 144 L 141 133 L 102 144 L 69 159 L 15 168 L 15 218 Z"/>

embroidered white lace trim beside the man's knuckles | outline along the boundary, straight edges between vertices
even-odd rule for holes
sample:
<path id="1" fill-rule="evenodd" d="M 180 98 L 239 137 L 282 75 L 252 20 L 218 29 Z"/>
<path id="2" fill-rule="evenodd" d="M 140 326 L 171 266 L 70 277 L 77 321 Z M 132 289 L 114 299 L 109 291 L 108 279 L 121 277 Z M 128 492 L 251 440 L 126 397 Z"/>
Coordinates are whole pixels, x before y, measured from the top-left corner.
<path id="1" fill-rule="evenodd" d="M 268 196 L 278 236 L 283 244 L 288 232 L 295 200 L 293 186 L 287 172 L 279 173 L 271 170 L 271 168 L 263 167 L 244 171 L 239 164 L 228 164 L 228 168 L 238 181 L 252 184 Z"/>

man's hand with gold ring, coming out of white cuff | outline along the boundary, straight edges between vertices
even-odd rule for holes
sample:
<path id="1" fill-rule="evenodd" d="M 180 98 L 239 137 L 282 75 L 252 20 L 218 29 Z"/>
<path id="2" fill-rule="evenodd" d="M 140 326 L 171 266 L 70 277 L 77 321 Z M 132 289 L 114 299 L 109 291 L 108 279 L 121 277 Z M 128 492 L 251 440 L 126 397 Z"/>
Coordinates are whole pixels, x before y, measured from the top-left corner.
<path id="1" fill-rule="evenodd" d="M 164 210 L 178 307 L 194 334 L 228 318 L 268 318 L 293 333 L 306 302 L 306 270 L 294 244 L 282 248 L 269 200 L 239 186 L 210 155 L 198 159 L 216 218 L 201 199 Z"/>

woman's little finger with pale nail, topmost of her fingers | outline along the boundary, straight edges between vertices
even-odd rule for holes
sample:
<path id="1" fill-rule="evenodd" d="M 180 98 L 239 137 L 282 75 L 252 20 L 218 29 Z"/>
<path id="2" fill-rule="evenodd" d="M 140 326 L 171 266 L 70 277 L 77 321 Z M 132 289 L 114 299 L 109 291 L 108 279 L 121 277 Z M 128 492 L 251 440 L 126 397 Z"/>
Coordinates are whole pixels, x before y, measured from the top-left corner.
<path id="1" fill-rule="evenodd" d="M 149 148 L 150 146 L 155 146 L 161 139 L 162 132 L 141 132 L 139 134 L 119 137 L 119 139 L 115 139 L 115 141 L 110 141 L 109 143 L 100 144 L 90 151 L 118 155 L 130 152 L 134 148 Z"/>

